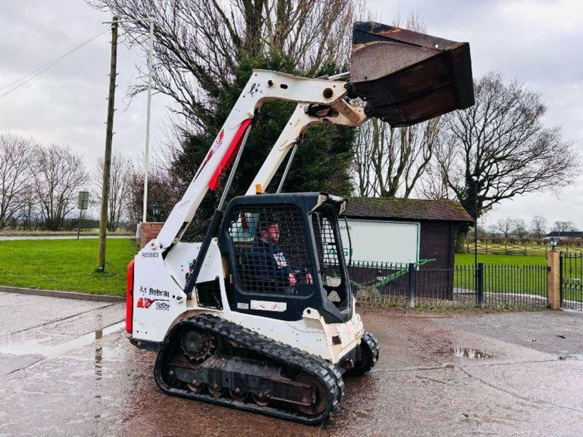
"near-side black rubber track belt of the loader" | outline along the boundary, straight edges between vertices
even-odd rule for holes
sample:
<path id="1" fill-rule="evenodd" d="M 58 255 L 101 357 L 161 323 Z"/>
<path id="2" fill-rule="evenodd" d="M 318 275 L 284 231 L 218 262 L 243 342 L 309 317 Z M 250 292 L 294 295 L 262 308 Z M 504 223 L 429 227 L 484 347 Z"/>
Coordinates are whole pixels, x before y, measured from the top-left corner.
<path id="1" fill-rule="evenodd" d="M 206 330 L 222 336 L 225 340 L 238 344 L 241 347 L 248 348 L 270 361 L 277 362 L 283 368 L 291 368 L 295 372 L 305 372 L 318 378 L 328 392 L 328 403 L 322 413 L 317 415 L 305 415 L 300 411 L 282 410 L 271 406 L 261 407 L 250 402 L 242 402 L 227 397 L 214 397 L 208 393 L 195 393 L 180 386 L 170 386 L 167 382 L 167 375 L 163 375 L 164 368 L 173 357 L 167 357 L 166 351 L 171 346 L 174 335 L 181 326 L 192 325 L 198 330 Z M 373 337 L 374 338 L 374 337 Z M 378 354 L 377 354 L 378 356 Z M 154 365 L 154 378 L 157 385 L 164 392 L 173 396 L 187 397 L 189 399 L 201 400 L 217 405 L 222 405 L 239 410 L 251 411 L 253 413 L 265 414 L 272 417 L 291 420 L 308 425 L 316 425 L 325 420 L 342 400 L 344 393 L 344 382 L 342 375 L 335 365 L 317 357 L 308 354 L 298 348 L 288 346 L 255 333 L 236 323 L 210 314 L 201 314 L 194 317 L 181 320 L 168 332 L 164 341 L 160 344 L 156 364 Z M 177 384 L 180 385 L 180 384 Z M 183 384 L 182 384 L 183 385 Z"/>

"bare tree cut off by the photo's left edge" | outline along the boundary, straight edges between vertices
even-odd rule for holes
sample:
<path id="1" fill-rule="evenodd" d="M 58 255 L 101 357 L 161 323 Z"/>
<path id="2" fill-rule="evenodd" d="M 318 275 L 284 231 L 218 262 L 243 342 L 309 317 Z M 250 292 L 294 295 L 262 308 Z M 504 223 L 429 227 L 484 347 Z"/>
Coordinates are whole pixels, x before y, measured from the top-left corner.
<path id="1" fill-rule="evenodd" d="M 23 212 L 35 146 L 32 139 L 0 133 L 0 230 Z"/>

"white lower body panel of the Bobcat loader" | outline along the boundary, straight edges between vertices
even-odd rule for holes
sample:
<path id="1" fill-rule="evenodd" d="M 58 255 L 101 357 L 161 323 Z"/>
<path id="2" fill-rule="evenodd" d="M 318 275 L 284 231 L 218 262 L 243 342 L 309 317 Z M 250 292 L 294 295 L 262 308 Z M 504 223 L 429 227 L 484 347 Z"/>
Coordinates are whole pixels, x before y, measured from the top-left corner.
<path id="1" fill-rule="evenodd" d="M 273 340 L 282 341 L 332 362 L 338 362 L 343 355 L 360 344 L 364 327 L 354 309 L 352 320 L 349 322 L 331 324 L 326 324 L 314 308 L 305 309 L 303 318 L 293 322 L 270 319 L 268 311 L 265 317 L 231 311 L 224 287 L 225 273 L 216 241 L 209 247 L 199 281 L 211 281 L 217 276 L 222 279 L 220 288 L 223 310 L 201 308 L 196 305 L 196 298 L 187 300 L 182 291 L 184 280 L 178 284 L 171 279 L 166 264 L 171 264 L 174 272 L 185 274 L 188 272 L 188 263 L 192 261 L 193 254 L 196 256 L 198 253 L 199 246 L 198 243 L 180 243 L 173 248 L 173 254 L 166 258 L 166 262 L 161 258 L 160 248 L 152 243 L 136 255 L 132 320 L 134 339 L 162 341 L 168 329 L 179 320 L 204 312 L 214 313 Z M 138 306 L 140 299 L 142 307 Z M 144 299 L 152 299 L 147 308 L 143 308 Z M 340 344 L 332 344 L 333 336 L 340 336 Z"/>

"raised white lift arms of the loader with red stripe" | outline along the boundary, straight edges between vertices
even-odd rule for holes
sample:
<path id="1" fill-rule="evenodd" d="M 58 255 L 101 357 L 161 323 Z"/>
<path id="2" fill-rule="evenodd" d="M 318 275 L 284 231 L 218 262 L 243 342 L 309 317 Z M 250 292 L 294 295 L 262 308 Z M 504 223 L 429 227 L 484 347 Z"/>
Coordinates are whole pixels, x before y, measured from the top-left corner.
<path id="1" fill-rule="evenodd" d="M 356 126 L 366 119 L 361 108 L 353 108 L 342 100 L 346 94 L 345 82 L 265 70 L 253 71 L 187 191 L 164 223 L 157 237 L 160 248 L 168 249 L 180 241 L 206 192 L 209 189 L 216 191 L 219 187 L 220 177 L 236 156 L 245 132 L 266 101 L 286 100 L 297 102 L 298 105 L 255 177 L 250 191 L 255 184 L 261 184 L 264 188 L 269 185 L 290 147 L 308 126 L 318 122 Z M 321 105 L 319 109 L 329 107 L 329 110 L 312 110 L 314 105 Z M 322 115 L 322 112 L 325 114 Z"/>

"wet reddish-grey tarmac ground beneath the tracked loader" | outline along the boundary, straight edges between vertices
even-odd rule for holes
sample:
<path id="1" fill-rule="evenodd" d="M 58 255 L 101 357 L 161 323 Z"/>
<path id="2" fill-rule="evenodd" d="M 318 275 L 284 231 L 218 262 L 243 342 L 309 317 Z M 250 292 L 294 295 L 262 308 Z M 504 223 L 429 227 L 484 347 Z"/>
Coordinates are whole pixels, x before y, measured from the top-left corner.
<path id="1" fill-rule="evenodd" d="M 0 435 L 581 435 L 583 313 L 362 311 L 381 360 L 306 427 L 161 393 L 122 304 L 0 299 Z"/>

